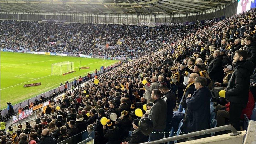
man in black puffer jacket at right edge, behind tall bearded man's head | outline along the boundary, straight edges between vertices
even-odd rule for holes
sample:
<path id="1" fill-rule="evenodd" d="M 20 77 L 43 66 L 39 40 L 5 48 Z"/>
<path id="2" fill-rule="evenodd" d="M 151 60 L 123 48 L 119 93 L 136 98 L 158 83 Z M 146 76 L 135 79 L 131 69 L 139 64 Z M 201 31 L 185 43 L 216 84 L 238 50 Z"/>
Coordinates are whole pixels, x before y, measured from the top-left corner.
<path id="1" fill-rule="evenodd" d="M 247 36 L 245 38 L 246 44 L 246 51 L 248 52 L 248 60 L 254 63 L 256 66 L 256 42 L 254 41 L 253 37 Z"/>

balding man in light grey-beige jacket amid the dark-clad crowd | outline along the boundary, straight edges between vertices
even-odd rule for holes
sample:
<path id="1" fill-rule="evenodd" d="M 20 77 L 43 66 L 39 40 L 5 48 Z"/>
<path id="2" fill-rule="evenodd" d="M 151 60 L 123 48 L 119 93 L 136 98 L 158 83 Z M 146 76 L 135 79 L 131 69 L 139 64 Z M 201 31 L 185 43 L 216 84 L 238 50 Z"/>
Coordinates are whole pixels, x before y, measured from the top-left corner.
<path id="1" fill-rule="evenodd" d="M 145 98 L 147 100 L 147 103 L 153 102 L 153 100 L 151 98 L 152 90 L 153 89 L 158 89 L 158 87 L 159 87 L 159 84 L 158 84 L 158 81 L 157 81 L 157 77 L 153 76 L 151 78 L 151 85 L 150 86 L 148 86 L 146 84 L 143 87 L 146 89 L 145 93 L 143 94 L 143 98 Z"/>

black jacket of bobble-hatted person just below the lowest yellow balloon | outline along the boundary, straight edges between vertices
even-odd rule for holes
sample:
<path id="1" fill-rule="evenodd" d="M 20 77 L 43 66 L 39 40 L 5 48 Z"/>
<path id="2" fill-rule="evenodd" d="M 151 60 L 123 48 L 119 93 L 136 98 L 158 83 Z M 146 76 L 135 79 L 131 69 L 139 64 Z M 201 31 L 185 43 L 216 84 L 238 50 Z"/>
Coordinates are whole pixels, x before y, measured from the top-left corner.
<path id="1" fill-rule="evenodd" d="M 104 139 L 108 141 L 108 144 L 120 144 L 121 137 L 119 127 L 115 127 L 112 130 L 103 130 L 103 133 Z"/>

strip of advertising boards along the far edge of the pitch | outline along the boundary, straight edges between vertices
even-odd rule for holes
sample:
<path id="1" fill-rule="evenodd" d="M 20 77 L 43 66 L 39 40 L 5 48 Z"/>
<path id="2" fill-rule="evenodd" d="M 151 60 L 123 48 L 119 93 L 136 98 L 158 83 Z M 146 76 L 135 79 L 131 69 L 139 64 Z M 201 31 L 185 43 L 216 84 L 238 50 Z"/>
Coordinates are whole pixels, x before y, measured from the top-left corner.
<path id="1" fill-rule="evenodd" d="M 74 54 L 74 53 L 41 52 L 41 51 L 16 50 L 16 49 L 1 49 L 1 51 L 21 52 L 21 53 L 41 54 L 41 55 L 54 55 L 54 56 L 76 56 L 76 57 L 85 57 L 85 58 L 102 58 L 102 59 L 108 57 L 108 60 L 126 60 L 126 57 L 111 57 L 111 56 L 99 56 L 99 55 L 81 55 L 81 54 Z"/>

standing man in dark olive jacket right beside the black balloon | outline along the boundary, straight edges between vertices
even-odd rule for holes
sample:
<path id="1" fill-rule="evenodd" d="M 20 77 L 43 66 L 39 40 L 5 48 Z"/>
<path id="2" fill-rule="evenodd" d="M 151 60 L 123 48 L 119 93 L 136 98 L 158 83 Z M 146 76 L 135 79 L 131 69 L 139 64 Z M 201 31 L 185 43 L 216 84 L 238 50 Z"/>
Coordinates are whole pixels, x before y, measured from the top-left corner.
<path id="1" fill-rule="evenodd" d="M 167 119 L 167 103 L 161 99 L 161 92 L 158 89 L 153 89 L 151 98 L 154 105 L 150 109 L 150 118 L 154 124 L 153 132 L 149 135 L 149 141 L 160 140 L 164 138 L 164 130 L 166 128 Z"/>

